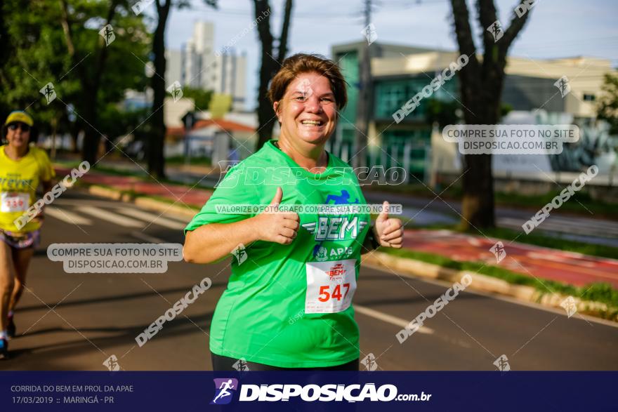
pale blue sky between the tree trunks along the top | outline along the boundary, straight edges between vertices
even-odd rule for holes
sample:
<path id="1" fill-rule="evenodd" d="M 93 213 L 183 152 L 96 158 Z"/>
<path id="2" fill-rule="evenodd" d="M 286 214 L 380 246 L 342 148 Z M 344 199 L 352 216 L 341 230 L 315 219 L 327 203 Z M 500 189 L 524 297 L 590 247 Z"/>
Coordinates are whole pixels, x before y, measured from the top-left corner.
<path id="1" fill-rule="evenodd" d="M 173 10 L 169 16 L 166 45 L 180 48 L 190 38 L 193 22 L 215 23 L 215 46 L 222 48 L 251 26 L 252 0 L 219 0 L 218 11 L 192 0 L 192 8 Z M 363 39 L 362 0 L 296 0 L 292 11 L 291 53 L 330 55 L 331 45 Z M 280 32 L 284 1 L 270 1 L 271 29 Z M 497 0 L 499 18 L 506 25 L 517 0 Z M 475 29 L 474 7 L 468 1 Z M 540 0 L 515 44 L 511 55 L 560 58 L 586 55 L 612 60 L 618 67 L 617 0 Z M 378 41 L 456 50 L 449 0 L 380 0 L 373 14 Z M 248 108 L 254 107 L 259 65 L 259 42 L 252 29 L 235 44 L 247 55 Z"/>

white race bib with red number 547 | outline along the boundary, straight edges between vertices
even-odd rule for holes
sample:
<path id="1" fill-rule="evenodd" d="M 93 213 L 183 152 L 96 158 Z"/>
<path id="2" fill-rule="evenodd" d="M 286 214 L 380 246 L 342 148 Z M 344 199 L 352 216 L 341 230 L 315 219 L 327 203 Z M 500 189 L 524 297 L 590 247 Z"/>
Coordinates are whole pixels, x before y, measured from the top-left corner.
<path id="1" fill-rule="evenodd" d="M 355 263 L 355 259 L 307 263 L 305 313 L 337 313 L 348 309 L 356 291 Z"/>

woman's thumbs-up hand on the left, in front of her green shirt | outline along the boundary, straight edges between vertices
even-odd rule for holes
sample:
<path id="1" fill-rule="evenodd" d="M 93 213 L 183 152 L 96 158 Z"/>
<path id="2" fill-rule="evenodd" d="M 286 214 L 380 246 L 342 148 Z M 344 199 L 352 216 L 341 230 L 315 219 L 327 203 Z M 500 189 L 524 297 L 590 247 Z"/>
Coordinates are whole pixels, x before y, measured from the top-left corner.
<path id="1" fill-rule="evenodd" d="M 260 240 L 272 241 L 278 244 L 289 245 L 298 234 L 300 219 L 298 213 L 278 211 L 283 198 L 283 190 L 277 187 L 275 197 L 270 201 L 270 210 L 263 211 L 254 218 L 256 232 Z M 272 209 L 277 211 L 273 212 Z"/>

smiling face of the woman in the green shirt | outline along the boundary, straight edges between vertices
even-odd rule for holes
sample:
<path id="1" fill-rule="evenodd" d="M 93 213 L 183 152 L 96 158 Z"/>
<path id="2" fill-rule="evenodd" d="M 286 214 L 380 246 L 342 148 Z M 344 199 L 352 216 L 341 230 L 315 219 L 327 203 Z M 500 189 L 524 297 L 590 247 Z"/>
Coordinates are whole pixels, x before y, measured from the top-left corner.
<path id="1" fill-rule="evenodd" d="M 300 145 L 324 145 L 335 131 L 337 105 L 329 80 L 316 73 L 301 73 L 273 105 L 281 133 Z"/>

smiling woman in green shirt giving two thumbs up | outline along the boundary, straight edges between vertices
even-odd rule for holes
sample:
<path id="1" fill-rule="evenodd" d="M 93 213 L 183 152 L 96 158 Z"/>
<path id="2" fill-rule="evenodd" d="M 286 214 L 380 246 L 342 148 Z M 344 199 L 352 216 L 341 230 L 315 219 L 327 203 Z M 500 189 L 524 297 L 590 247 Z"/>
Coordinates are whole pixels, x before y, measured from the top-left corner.
<path id="1" fill-rule="evenodd" d="M 211 323 L 213 370 L 358 370 L 352 298 L 360 255 L 400 248 L 402 224 L 384 212 L 371 225 L 367 211 L 285 211 L 367 202 L 352 168 L 324 150 L 347 102 L 336 64 L 317 55 L 287 58 L 269 98 L 279 140 L 231 168 L 185 229 L 188 262 L 235 255 Z M 282 211 L 259 213 L 258 205 Z"/>

